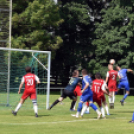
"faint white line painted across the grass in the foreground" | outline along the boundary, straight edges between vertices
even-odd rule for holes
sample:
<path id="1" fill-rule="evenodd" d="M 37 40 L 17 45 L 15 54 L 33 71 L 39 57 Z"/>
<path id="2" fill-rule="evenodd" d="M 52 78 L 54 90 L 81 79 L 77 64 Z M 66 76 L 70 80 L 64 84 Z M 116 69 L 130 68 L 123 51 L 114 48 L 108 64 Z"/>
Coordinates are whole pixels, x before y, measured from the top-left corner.
<path id="1" fill-rule="evenodd" d="M 111 118 L 111 119 L 126 119 L 125 117 L 121 118 Z M 57 124 L 57 123 L 71 123 L 71 122 L 81 122 L 81 121 L 96 121 L 98 119 L 83 119 L 83 120 L 72 120 L 72 121 L 54 121 L 54 122 L 29 122 L 29 123 L 8 123 L 8 122 L 0 122 L 0 125 L 41 125 L 41 124 Z"/>

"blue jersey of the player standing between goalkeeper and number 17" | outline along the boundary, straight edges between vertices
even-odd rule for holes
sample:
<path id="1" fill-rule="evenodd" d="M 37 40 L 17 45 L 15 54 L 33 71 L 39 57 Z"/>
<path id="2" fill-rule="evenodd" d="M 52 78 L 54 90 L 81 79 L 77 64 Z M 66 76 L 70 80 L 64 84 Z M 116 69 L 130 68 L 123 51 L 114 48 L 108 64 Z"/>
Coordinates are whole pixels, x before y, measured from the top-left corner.
<path id="1" fill-rule="evenodd" d="M 89 83 L 89 86 L 88 88 L 83 92 L 82 95 L 92 95 L 93 92 L 91 90 L 91 83 L 92 83 L 92 79 L 90 76 L 86 75 L 83 77 L 83 80 L 82 80 L 82 89 L 84 89 L 84 87 L 86 86 L 86 83 Z"/>

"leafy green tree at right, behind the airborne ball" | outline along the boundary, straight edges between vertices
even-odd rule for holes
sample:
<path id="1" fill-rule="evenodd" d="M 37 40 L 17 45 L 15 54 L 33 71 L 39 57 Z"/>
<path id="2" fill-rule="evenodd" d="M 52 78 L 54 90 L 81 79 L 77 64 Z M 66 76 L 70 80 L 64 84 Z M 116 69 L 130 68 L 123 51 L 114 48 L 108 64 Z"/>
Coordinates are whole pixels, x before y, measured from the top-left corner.
<path id="1" fill-rule="evenodd" d="M 96 23 L 94 64 L 96 70 L 106 70 L 114 58 L 122 67 L 133 68 L 134 63 L 134 1 L 112 0 L 108 9 L 102 9 L 102 22 Z"/>

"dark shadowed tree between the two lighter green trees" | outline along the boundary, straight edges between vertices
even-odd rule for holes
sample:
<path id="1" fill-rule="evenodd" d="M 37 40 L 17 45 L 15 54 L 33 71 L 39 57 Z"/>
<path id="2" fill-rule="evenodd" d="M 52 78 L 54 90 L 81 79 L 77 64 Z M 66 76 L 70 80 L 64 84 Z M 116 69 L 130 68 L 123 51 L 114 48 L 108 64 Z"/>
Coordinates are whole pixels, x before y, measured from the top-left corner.
<path id="1" fill-rule="evenodd" d="M 101 22 L 100 10 L 107 8 L 106 4 L 102 0 L 62 1 L 60 14 L 64 23 L 57 32 L 63 39 L 63 45 L 57 50 L 52 61 L 52 74 L 60 76 L 65 83 L 70 70 L 87 68 L 93 72 L 93 64 L 96 63 L 96 46 L 92 45 L 95 39 L 95 23 Z"/>

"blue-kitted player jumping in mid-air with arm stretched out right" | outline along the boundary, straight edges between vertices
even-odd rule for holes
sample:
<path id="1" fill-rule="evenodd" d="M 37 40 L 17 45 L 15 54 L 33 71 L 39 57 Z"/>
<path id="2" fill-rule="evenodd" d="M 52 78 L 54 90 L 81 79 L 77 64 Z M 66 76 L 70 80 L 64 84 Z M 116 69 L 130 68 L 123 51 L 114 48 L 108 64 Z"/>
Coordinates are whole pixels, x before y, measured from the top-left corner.
<path id="1" fill-rule="evenodd" d="M 126 94 L 124 95 L 123 99 L 120 101 L 121 105 L 124 105 L 124 100 L 127 98 L 127 96 L 130 93 L 130 87 L 129 82 L 127 78 L 127 72 L 133 73 L 133 70 L 131 69 L 121 69 L 119 66 L 116 66 L 116 69 L 118 70 L 118 76 L 119 76 L 119 85 L 118 89 L 125 88 Z"/>

